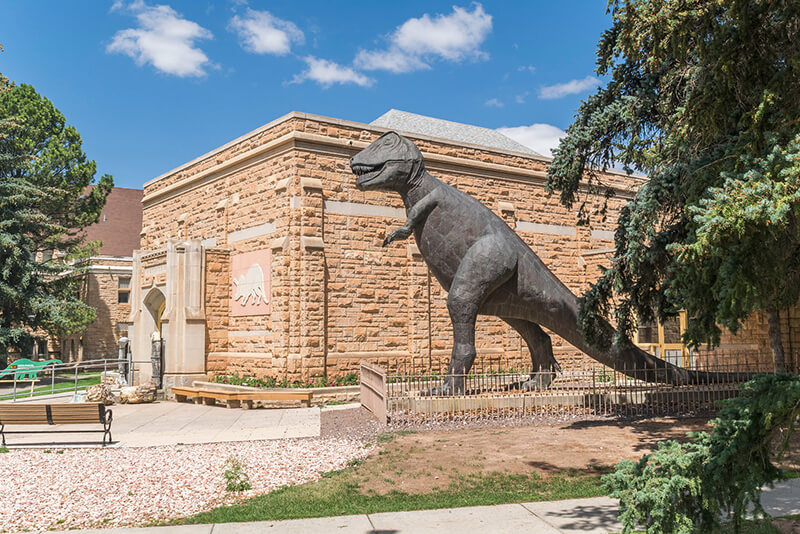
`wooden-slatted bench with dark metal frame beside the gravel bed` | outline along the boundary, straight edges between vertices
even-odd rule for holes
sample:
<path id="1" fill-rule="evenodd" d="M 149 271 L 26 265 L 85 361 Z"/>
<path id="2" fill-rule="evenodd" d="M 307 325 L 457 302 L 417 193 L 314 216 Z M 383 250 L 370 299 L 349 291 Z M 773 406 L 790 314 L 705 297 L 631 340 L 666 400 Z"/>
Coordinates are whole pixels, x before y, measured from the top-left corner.
<path id="1" fill-rule="evenodd" d="M 99 402 L 80 404 L 0 404 L 0 436 L 3 446 L 6 434 L 46 434 L 48 432 L 102 432 L 103 447 L 111 443 L 111 410 Z M 101 424 L 102 430 L 18 430 L 9 432 L 7 425 L 87 425 Z M 107 439 L 106 439 L 107 438 Z"/>

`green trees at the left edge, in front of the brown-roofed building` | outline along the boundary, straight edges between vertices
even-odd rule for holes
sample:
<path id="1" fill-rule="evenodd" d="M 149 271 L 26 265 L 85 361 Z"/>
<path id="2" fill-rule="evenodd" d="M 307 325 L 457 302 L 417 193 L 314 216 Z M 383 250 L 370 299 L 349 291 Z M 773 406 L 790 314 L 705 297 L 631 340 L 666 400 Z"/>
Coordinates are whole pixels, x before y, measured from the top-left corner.
<path id="1" fill-rule="evenodd" d="M 52 102 L 0 76 L 0 359 L 36 333 L 68 334 L 94 320 L 72 260 L 85 254 L 81 231 L 113 186 L 95 172 Z"/>

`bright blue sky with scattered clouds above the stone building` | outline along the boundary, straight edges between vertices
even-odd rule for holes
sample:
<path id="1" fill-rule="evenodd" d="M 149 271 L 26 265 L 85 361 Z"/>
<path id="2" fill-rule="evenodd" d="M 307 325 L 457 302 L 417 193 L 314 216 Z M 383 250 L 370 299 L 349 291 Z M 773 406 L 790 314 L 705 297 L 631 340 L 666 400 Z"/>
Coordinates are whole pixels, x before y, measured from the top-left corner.
<path id="1" fill-rule="evenodd" d="M 7 0 L 0 72 L 141 187 L 290 111 L 396 108 L 506 130 L 545 153 L 593 77 L 605 2 Z"/>

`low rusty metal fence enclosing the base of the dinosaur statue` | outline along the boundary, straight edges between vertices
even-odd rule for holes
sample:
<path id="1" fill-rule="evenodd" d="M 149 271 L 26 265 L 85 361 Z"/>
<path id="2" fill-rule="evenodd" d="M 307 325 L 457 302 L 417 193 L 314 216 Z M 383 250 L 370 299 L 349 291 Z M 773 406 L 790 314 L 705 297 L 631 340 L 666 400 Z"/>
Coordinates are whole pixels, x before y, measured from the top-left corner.
<path id="1" fill-rule="evenodd" d="M 534 372 L 520 365 L 505 367 L 497 359 L 480 361 L 470 373 L 459 376 L 463 378 L 463 391 L 446 395 L 434 389 L 446 376 L 447 370 L 441 366 L 436 369 L 415 366 L 410 360 L 384 360 L 380 366 L 362 363 L 362 404 L 368 382 L 370 410 L 377 415 L 381 409 L 377 404 L 381 398 L 385 399 L 386 420 L 393 425 L 529 415 L 708 414 L 715 410 L 717 401 L 736 396 L 739 385 L 749 376 L 769 371 L 770 367 L 764 363 L 765 358 L 771 358 L 768 354 L 713 356 L 711 359 L 698 355 L 691 367 L 709 374 L 685 385 L 631 378 L 653 376 L 644 369 L 620 372 L 599 364 L 586 364 L 554 374 Z M 385 377 L 383 391 L 377 376 Z"/>

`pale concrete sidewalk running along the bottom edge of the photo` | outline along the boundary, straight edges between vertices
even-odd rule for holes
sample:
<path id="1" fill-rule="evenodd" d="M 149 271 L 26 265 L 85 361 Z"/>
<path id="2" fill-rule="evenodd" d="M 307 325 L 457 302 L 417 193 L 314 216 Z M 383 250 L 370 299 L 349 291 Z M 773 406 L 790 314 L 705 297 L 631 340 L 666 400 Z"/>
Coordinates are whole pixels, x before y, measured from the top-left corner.
<path id="1" fill-rule="evenodd" d="M 762 504 L 773 517 L 800 514 L 800 479 L 781 482 L 765 490 Z M 459 534 L 607 534 L 620 532 L 617 501 L 608 497 L 571 501 L 501 504 L 418 512 L 388 512 L 369 515 L 295 519 L 291 521 L 257 521 L 252 523 L 220 523 L 216 525 L 182 525 L 66 531 L 92 534 L 427 534 L 458 532 Z M 58 533 L 56 533 L 58 534 Z"/>

